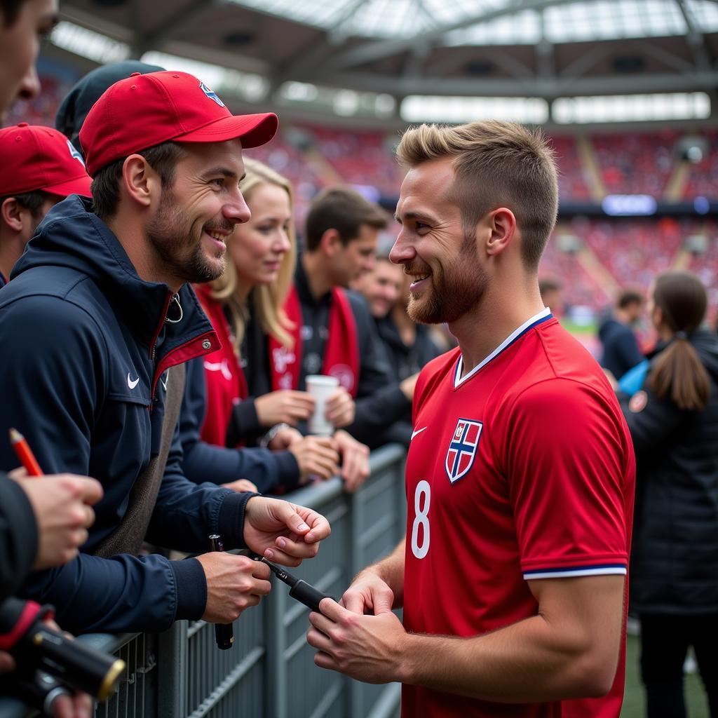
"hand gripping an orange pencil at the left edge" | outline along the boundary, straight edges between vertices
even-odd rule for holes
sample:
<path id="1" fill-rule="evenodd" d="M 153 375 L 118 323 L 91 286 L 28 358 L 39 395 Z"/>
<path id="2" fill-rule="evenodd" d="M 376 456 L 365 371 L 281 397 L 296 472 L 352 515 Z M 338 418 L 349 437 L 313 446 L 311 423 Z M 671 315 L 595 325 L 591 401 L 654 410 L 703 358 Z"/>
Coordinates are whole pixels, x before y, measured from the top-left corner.
<path id="1" fill-rule="evenodd" d="M 102 485 L 95 479 L 73 474 L 22 477 L 12 472 L 27 494 L 37 522 L 35 569 L 62 566 L 78 555 L 95 521 L 91 508 L 102 498 Z"/>

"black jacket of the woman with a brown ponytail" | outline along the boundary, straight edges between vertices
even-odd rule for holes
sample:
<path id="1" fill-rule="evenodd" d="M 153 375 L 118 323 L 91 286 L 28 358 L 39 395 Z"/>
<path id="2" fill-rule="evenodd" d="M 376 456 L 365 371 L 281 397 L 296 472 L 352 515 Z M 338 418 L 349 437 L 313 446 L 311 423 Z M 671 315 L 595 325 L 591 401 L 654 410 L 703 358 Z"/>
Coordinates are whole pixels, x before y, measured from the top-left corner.
<path id="1" fill-rule="evenodd" d="M 698 332 L 691 344 L 711 378 L 707 409 L 681 411 L 645 384 L 643 408 L 643 396 L 620 396 L 637 464 L 630 589 L 639 614 L 718 612 L 718 339 Z"/>

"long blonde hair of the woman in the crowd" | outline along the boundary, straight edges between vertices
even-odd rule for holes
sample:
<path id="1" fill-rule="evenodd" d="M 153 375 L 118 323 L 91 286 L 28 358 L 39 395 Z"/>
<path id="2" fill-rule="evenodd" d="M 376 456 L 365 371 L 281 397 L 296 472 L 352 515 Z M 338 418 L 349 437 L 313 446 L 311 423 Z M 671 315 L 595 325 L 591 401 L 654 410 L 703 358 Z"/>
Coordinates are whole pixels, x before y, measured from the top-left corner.
<path id="1" fill-rule="evenodd" d="M 289 210 L 294 210 L 294 197 L 292 185 L 286 177 L 267 167 L 263 162 L 246 157 L 244 159 L 246 175 L 240 183 L 240 189 L 245 200 L 249 201 L 252 192 L 260 185 L 277 185 L 286 191 L 289 196 Z M 249 294 L 249 301 L 255 312 L 256 319 L 261 325 L 265 334 L 271 335 L 287 348 L 291 348 L 292 322 L 284 313 L 283 305 L 286 295 L 292 286 L 294 266 L 297 264 L 297 236 L 294 230 L 294 218 L 289 220 L 287 229 L 289 236 L 289 251 L 284 255 L 279 267 L 279 275 L 276 281 L 271 284 L 261 284 L 253 287 Z M 238 238 L 230 238 L 230 242 L 239 241 Z M 228 305 L 232 318 L 232 325 L 235 335 L 235 349 L 239 355 L 244 337 L 244 329 L 248 318 L 248 307 L 238 296 L 238 276 L 233 261 L 228 261 L 225 271 L 219 279 L 212 282 L 212 296 L 223 304 Z"/>

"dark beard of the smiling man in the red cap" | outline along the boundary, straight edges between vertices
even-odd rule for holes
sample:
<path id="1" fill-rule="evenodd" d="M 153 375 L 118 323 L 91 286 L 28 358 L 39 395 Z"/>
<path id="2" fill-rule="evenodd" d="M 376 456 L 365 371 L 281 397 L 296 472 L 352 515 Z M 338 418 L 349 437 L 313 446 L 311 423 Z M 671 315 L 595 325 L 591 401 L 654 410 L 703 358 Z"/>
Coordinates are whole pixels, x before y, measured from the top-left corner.
<path id="1" fill-rule="evenodd" d="M 213 224 L 213 229 L 231 231 L 233 228 L 234 225 Z M 147 239 L 162 274 L 194 284 L 205 284 L 222 276 L 224 252 L 218 251 L 217 261 L 212 261 L 202 249 L 202 230 L 204 225 L 194 230 L 191 218 L 177 206 L 172 190 L 163 187 L 157 215 L 146 227 Z"/>

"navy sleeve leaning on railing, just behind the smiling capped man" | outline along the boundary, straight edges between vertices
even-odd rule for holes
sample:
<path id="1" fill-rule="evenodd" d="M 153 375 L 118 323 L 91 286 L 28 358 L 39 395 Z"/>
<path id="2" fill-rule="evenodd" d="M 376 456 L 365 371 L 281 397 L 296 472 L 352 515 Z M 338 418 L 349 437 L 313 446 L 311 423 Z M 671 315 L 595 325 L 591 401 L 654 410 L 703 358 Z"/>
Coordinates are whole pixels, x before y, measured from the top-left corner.
<path id="1" fill-rule="evenodd" d="M 207 409 L 205 368 L 202 358 L 187 362 L 185 399 L 180 413 L 182 468 L 190 481 L 226 484 L 249 479 L 258 491 L 267 493 L 279 486 L 292 490 L 299 485 L 299 465 L 288 451 L 273 452 L 258 447 L 216 447 L 200 440 Z"/>

